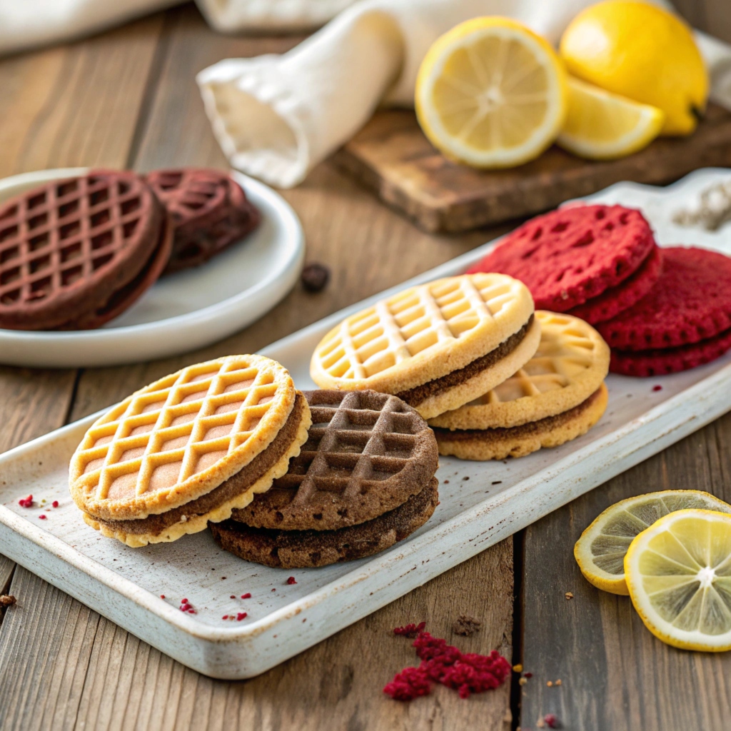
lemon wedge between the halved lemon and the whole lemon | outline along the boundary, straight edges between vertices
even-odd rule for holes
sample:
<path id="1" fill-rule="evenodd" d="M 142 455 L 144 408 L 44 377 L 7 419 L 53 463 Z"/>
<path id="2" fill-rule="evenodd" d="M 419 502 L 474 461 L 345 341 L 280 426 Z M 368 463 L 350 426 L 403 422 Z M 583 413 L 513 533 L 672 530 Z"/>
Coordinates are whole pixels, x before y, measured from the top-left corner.
<path id="1" fill-rule="evenodd" d="M 641 150 L 659 135 L 665 113 L 569 77 L 569 107 L 558 145 L 590 160 Z"/>

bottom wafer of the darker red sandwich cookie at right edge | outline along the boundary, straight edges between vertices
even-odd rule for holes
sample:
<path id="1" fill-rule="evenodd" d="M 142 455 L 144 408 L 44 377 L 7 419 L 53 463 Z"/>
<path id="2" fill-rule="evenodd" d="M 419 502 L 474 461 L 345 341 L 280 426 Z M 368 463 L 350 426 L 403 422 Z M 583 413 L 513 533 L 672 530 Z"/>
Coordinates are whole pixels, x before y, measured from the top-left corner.
<path id="1" fill-rule="evenodd" d="M 609 369 L 625 376 L 664 376 L 711 363 L 731 349 L 731 330 L 678 348 L 627 352 L 612 350 Z"/>

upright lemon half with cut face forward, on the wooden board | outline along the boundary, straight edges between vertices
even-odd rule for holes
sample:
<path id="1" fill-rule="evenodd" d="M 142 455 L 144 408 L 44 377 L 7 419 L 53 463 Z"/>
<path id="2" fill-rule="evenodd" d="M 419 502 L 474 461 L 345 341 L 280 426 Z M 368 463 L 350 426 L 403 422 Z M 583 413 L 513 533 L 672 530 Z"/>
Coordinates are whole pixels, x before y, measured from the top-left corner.
<path id="1" fill-rule="evenodd" d="M 561 129 L 566 72 L 556 52 L 515 20 L 474 18 L 426 54 L 414 100 L 424 134 L 474 167 L 537 157 Z"/>

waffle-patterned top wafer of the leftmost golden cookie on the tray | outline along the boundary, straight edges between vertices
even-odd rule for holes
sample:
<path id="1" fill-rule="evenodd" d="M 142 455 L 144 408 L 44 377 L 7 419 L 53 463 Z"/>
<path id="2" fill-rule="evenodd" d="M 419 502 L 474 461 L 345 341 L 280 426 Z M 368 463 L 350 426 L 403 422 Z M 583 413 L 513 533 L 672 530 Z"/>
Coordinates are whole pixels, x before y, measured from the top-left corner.
<path id="1" fill-rule="evenodd" d="M 269 358 L 234 355 L 183 368 L 94 423 L 72 458 L 72 496 L 106 520 L 196 499 L 268 447 L 294 401 L 289 373 Z"/>

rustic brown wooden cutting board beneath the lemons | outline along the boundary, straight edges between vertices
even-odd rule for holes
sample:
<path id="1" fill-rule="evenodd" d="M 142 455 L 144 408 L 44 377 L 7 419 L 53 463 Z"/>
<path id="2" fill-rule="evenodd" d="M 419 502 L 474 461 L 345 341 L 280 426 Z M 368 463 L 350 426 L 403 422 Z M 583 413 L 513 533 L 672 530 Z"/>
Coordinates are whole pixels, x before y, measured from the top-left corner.
<path id="1" fill-rule="evenodd" d="M 428 232 L 531 216 L 619 181 L 670 183 L 698 167 L 731 167 L 731 113 L 711 105 L 690 137 L 664 137 L 619 160 L 590 162 L 553 146 L 510 170 L 482 171 L 439 154 L 412 111 L 385 110 L 335 162 Z"/>

